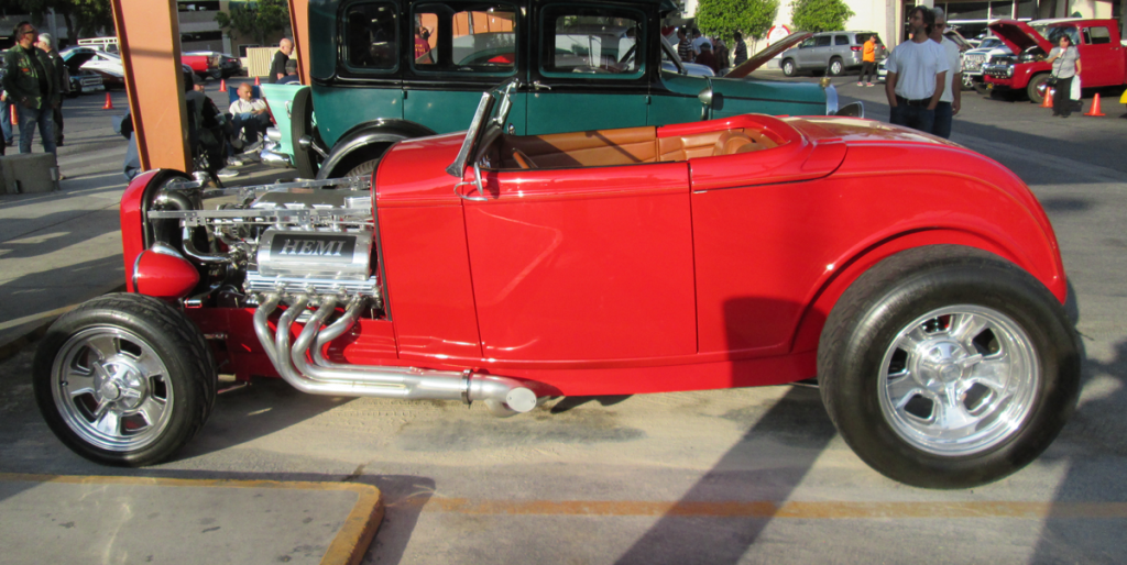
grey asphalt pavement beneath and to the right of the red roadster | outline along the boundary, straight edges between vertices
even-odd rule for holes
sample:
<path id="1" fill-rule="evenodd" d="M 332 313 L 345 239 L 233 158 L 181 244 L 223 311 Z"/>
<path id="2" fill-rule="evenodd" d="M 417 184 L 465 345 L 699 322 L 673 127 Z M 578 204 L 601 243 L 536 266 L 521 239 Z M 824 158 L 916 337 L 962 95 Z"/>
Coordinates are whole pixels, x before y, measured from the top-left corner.
<path id="1" fill-rule="evenodd" d="M 887 119 L 882 89 L 854 81 L 835 80 L 845 101 Z M 817 391 L 790 386 L 564 398 L 498 420 L 479 405 L 256 382 L 221 395 L 177 460 L 112 469 L 47 431 L 33 348 L 0 364 L 0 472 L 371 484 L 387 514 L 364 563 L 1121 563 L 1127 119 L 1117 98 L 1103 102 L 1108 117 L 1059 119 L 966 92 L 956 118 L 953 141 L 1012 169 L 1045 205 L 1085 348 L 1075 416 L 995 484 L 888 481 L 836 436 Z M 0 527 L 0 541 L 12 531 Z"/>

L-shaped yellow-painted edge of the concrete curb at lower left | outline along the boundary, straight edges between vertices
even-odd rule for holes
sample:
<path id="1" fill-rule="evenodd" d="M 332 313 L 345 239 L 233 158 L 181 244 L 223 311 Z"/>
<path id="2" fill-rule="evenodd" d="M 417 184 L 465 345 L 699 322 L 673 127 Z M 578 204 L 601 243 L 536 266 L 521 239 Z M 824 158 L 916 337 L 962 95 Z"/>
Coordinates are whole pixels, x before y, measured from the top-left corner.
<path id="1" fill-rule="evenodd" d="M 314 483 L 303 481 L 228 481 L 194 478 L 109 477 L 91 475 L 30 475 L 0 473 L 0 481 L 79 485 L 171 486 L 195 488 L 282 488 L 296 491 L 349 491 L 356 504 L 321 557 L 322 565 L 355 565 L 364 557 L 375 531 L 383 521 L 383 495 L 380 490 L 358 483 Z"/>

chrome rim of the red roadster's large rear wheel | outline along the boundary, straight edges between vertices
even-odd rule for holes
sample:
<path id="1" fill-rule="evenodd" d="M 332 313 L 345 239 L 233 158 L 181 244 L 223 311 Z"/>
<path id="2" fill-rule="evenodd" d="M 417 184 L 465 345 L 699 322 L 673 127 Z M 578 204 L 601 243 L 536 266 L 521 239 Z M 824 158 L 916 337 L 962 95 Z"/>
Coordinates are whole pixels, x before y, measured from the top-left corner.
<path id="1" fill-rule="evenodd" d="M 961 456 L 988 449 L 1020 428 L 1040 383 L 1032 342 L 992 308 L 935 310 L 903 328 L 885 353 L 880 407 L 914 447 Z"/>

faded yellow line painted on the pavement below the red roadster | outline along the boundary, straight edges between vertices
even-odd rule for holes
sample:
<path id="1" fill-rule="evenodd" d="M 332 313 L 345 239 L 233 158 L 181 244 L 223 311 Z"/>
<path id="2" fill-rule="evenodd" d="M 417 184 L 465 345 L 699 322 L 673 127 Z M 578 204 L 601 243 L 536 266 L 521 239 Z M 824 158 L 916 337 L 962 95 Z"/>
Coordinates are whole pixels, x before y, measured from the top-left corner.
<path id="1" fill-rule="evenodd" d="M 432 512 L 509 515 L 704 517 L 773 519 L 888 518 L 1127 518 L 1125 502 L 663 502 L 663 501 L 500 501 L 408 499 L 394 505 Z"/>

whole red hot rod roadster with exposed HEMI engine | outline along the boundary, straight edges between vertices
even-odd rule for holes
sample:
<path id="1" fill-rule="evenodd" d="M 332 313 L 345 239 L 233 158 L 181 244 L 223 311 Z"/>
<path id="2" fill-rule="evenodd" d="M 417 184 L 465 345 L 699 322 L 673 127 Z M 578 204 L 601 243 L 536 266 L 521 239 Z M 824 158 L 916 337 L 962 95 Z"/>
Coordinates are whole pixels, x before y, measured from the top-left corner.
<path id="1" fill-rule="evenodd" d="M 403 141 L 371 179 L 208 189 L 136 178 L 126 294 L 60 319 L 35 364 L 55 434 L 109 465 L 203 425 L 216 367 L 340 396 L 482 401 L 817 377 L 870 466 L 1003 477 L 1076 402 L 1053 227 L 959 145 L 852 117 Z"/>

